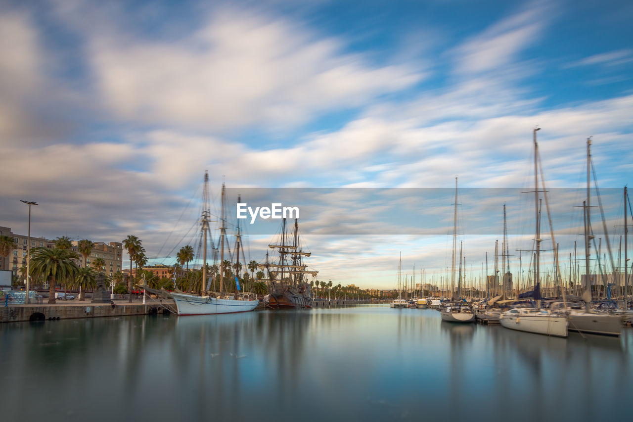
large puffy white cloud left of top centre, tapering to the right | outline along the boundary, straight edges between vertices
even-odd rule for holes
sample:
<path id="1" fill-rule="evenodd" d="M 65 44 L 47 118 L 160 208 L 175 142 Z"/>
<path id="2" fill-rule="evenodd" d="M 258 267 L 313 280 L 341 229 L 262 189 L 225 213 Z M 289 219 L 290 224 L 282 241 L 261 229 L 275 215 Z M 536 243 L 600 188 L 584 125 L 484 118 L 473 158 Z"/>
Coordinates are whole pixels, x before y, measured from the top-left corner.
<path id="1" fill-rule="evenodd" d="M 116 115 L 190 129 L 298 124 L 422 78 L 407 65 L 372 67 L 343 47 L 281 19 L 224 12 L 172 41 L 101 34 L 89 54 Z"/>

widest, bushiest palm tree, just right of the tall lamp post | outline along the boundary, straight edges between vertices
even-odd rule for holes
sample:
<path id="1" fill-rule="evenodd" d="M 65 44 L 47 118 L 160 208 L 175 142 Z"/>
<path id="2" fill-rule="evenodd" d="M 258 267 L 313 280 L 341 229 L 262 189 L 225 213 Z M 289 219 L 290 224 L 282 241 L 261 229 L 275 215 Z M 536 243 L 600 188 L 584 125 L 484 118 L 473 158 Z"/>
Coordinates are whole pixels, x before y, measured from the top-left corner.
<path id="1" fill-rule="evenodd" d="M 56 281 L 75 279 L 78 267 L 73 259 L 79 255 L 68 249 L 60 248 L 35 248 L 31 255 L 31 274 L 37 274 L 44 279 L 50 278 L 48 303 L 55 303 Z"/>

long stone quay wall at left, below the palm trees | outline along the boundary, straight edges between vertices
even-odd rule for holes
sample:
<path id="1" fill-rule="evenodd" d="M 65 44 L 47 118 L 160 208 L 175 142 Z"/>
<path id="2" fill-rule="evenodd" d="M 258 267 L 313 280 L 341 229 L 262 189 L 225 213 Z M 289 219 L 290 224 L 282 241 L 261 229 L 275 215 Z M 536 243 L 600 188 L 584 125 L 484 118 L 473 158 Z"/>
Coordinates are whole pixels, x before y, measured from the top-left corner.
<path id="1" fill-rule="evenodd" d="M 169 307 L 170 304 L 163 303 Z M 173 305 L 172 305 L 173 307 Z M 20 321 L 46 321 L 49 319 L 74 319 L 116 317 L 145 314 L 162 314 L 170 311 L 158 304 L 91 304 L 82 305 L 15 305 L 3 307 L 0 323 Z"/>

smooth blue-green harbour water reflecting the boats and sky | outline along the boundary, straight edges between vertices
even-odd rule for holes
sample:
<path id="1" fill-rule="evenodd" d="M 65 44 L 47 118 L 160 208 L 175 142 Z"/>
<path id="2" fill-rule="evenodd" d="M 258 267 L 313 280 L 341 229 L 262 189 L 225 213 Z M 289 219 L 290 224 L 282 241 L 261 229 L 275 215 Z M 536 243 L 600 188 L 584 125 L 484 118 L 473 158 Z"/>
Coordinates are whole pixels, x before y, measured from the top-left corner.
<path id="1" fill-rule="evenodd" d="M 631 420 L 633 331 L 388 306 L 0 325 L 3 421 Z"/>

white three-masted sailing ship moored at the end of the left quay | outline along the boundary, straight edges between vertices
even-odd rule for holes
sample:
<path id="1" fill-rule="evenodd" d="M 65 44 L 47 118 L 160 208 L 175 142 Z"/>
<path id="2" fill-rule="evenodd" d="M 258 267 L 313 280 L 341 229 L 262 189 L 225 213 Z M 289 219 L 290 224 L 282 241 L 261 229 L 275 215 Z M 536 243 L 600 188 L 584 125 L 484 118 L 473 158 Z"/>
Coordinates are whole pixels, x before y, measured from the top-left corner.
<path id="1" fill-rule="evenodd" d="M 252 293 L 241 293 L 239 279 L 235 278 L 235 293 L 224 291 L 224 243 L 226 238 L 226 227 L 224 221 L 224 201 L 225 201 L 225 185 L 222 183 L 222 219 L 220 227 L 220 291 L 210 291 L 211 281 L 207 283 L 206 279 L 206 246 L 209 231 L 210 210 L 207 208 L 209 198 L 209 174 L 204 172 L 204 200 L 203 212 L 201 216 L 201 227 L 203 231 L 204 247 L 203 247 L 203 270 L 202 270 L 202 286 L 206 290 L 202 290 L 201 294 L 185 293 L 184 291 L 174 289 L 167 291 L 165 289 L 154 290 L 147 285 L 141 285 L 144 290 L 149 293 L 162 295 L 172 298 L 176 304 L 177 314 L 179 315 L 210 315 L 210 314 L 232 314 L 235 312 L 249 312 L 257 307 L 260 301 Z M 239 239 L 239 236 L 238 236 Z M 238 243 L 239 245 L 239 243 Z"/>

